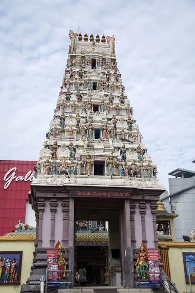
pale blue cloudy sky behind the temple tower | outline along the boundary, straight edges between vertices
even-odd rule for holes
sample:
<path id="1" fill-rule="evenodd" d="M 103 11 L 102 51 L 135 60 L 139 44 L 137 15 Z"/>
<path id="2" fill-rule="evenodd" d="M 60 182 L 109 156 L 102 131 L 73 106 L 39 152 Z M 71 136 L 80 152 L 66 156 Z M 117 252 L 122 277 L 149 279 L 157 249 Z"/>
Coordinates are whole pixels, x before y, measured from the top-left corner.
<path id="1" fill-rule="evenodd" d="M 69 29 L 115 35 L 118 68 L 158 178 L 195 164 L 194 0 L 1 0 L 0 159 L 38 160 Z"/>

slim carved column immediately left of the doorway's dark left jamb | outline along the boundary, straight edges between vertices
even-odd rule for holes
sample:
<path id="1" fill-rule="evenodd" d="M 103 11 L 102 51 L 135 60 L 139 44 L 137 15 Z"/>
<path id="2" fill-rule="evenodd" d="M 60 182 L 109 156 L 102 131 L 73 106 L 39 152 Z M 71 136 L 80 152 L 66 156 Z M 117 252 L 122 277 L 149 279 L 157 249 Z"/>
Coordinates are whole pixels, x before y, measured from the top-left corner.
<path id="1" fill-rule="evenodd" d="M 68 247 L 68 224 L 69 224 L 69 198 L 64 198 L 62 205 L 62 214 L 63 214 L 63 222 L 62 222 L 62 247 Z"/>

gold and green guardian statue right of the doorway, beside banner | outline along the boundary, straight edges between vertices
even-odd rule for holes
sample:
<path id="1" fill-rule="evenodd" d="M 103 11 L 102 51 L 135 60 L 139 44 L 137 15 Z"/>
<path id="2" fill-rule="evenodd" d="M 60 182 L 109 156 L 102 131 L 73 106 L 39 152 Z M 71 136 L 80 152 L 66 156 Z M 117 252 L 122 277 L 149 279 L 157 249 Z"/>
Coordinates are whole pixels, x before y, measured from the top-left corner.
<path id="1" fill-rule="evenodd" d="M 148 264 L 146 263 L 146 259 L 148 259 L 148 252 L 145 245 L 142 243 L 140 246 L 140 252 L 135 254 L 137 257 L 137 262 L 135 264 L 136 270 L 140 271 L 140 277 L 142 279 L 146 279 L 146 271 L 148 271 Z"/>

